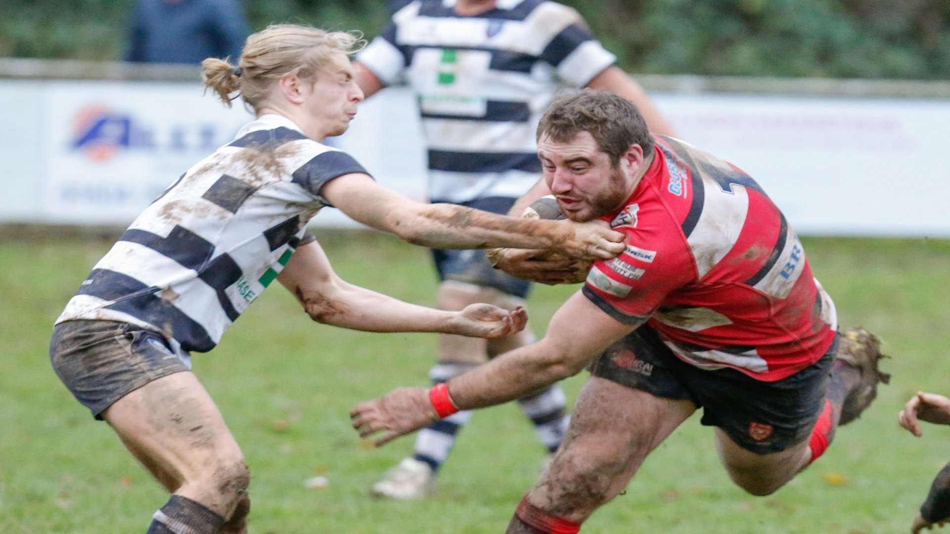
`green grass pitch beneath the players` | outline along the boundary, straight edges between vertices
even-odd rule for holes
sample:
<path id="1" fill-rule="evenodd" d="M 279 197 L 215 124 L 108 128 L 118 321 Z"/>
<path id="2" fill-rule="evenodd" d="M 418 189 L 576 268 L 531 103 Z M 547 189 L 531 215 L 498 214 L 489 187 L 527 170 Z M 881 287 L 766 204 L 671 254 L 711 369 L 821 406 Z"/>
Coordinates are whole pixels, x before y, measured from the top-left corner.
<path id="1" fill-rule="evenodd" d="M 143 532 L 163 490 L 89 417 L 49 368 L 50 325 L 108 244 L 68 238 L 0 241 L 0 532 Z M 368 234 L 321 238 L 346 279 L 432 303 L 427 252 Z M 950 393 L 950 242 L 808 238 L 812 267 L 844 327 L 879 334 L 890 386 L 842 429 L 826 455 L 774 495 L 755 498 L 718 465 L 712 430 L 693 416 L 647 460 L 625 495 L 584 532 L 877 533 L 906 531 L 950 429 L 915 439 L 896 413 L 919 389 Z M 530 299 L 538 331 L 575 288 Z M 502 532 L 535 481 L 542 447 L 514 406 L 484 410 L 461 434 L 437 497 L 374 501 L 367 487 L 411 449 L 363 447 L 356 402 L 426 385 L 435 336 L 363 334 L 318 325 L 277 288 L 262 296 L 195 371 L 217 400 L 253 474 L 251 529 L 264 533 Z M 584 374 L 566 381 L 573 397 Z M 323 491 L 303 481 L 329 478 Z"/>

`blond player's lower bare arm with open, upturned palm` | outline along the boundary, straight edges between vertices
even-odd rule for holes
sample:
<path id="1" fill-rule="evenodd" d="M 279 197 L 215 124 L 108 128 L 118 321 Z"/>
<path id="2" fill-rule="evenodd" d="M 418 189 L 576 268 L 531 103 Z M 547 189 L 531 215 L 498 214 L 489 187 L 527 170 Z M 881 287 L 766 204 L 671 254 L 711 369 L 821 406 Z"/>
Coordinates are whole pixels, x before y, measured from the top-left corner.
<path id="1" fill-rule="evenodd" d="M 434 310 L 352 285 L 333 273 L 316 241 L 300 246 L 277 277 L 314 321 L 368 332 L 435 332 L 499 337 L 521 332 L 523 309 L 472 304 L 461 312 Z"/>

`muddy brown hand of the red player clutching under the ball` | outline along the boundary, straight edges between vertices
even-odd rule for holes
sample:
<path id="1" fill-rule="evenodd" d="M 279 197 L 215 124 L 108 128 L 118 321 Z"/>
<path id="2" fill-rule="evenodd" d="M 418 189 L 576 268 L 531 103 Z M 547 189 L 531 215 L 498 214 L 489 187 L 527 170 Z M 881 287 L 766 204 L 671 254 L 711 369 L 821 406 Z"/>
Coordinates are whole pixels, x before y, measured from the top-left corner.
<path id="1" fill-rule="evenodd" d="M 512 277 L 547 285 L 580 283 L 592 263 L 543 250 L 512 248 L 492 249 L 489 257 L 495 267 Z"/>

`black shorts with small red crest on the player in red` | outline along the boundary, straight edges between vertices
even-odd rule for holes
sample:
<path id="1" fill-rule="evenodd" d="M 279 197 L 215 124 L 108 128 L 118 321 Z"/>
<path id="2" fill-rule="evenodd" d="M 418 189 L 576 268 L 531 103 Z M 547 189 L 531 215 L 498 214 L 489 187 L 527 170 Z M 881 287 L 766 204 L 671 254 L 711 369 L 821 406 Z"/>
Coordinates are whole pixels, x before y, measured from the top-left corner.
<path id="1" fill-rule="evenodd" d="M 808 439 L 825 407 L 838 338 L 815 364 L 775 382 L 734 369 L 707 371 L 677 358 L 644 325 L 603 353 L 591 374 L 657 397 L 693 401 L 703 425 L 723 429 L 737 445 L 758 454 Z"/>

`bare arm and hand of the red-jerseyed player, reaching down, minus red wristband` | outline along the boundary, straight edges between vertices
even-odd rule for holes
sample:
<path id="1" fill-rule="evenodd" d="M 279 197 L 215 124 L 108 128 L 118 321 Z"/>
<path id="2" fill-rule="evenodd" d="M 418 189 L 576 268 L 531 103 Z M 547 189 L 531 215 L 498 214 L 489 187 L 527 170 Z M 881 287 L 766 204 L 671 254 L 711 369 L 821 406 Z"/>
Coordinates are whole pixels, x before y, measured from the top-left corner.
<path id="1" fill-rule="evenodd" d="M 577 374 L 637 326 L 618 322 L 578 292 L 551 319 L 541 341 L 449 380 L 447 400 L 457 409 L 471 410 L 521 398 Z M 405 388 L 364 402 L 350 412 L 353 428 L 363 437 L 382 431 L 377 446 L 421 429 L 439 418 L 429 394 Z"/>

